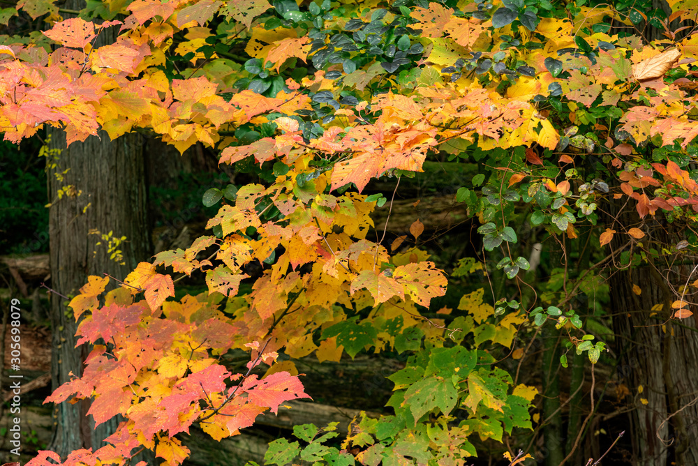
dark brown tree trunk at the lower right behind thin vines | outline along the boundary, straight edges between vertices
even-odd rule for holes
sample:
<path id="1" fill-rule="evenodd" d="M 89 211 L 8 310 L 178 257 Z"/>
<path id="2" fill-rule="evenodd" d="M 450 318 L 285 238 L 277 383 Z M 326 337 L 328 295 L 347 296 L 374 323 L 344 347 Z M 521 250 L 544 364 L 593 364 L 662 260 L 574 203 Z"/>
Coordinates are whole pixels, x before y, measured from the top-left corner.
<path id="1" fill-rule="evenodd" d="M 619 220 L 632 225 L 623 214 Z M 659 219 L 646 221 L 646 227 L 654 234 L 643 239 L 646 250 L 670 248 L 681 240 L 678 231 L 667 231 L 672 226 L 660 225 Z M 611 246 L 621 248 L 621 239 L 614 239 Z M 667 259 L 681 262 L 681 257 Z M 619 382 L 628 386 L 634 403 L 630 412 L 634 465 L 698 465 L 698 405 L 692 404 L 698 396 L 696 320 L 670 318 L 671 303 L 679 299 L 676 292 L 690 272 L 689 266 L 670 267 L 650 259 L 610 278 L 616 350 L 621 356 Z"/>

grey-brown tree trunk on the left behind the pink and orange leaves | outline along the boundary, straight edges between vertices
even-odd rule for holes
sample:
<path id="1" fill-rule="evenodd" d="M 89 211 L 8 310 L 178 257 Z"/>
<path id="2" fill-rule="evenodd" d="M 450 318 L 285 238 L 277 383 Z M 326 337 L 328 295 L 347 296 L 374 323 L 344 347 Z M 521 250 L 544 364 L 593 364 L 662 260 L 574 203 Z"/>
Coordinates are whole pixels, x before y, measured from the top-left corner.
<path id="1" fill-rule="evenodd" d="M 50 134 L 52 146 L 65 148 L 64 133 L 51 130 Z M 122 280 L 140 260 L 149 256 L 142 147 L 140 135 L 126 135 L 111 142 L 106 133 L 100 132 L 99 138 L 75 142 L 60 153 L 59 168 L 49 173 L 48 181 L 52 200 L 51 278 L 57 292 L 75 296 L 91 274 L 108 273 Z M 55 174 L 66 168 L 70 171 L 61 182 Z M 57 192 L 64 186 L 73 186 L 73 195 L 57 200 Z M 119 245 L 123 264 L 110 260 L 107 241 L 89 234 L 91 229 L 103 234 L 113 232 L 117 238 L 126 236 L 126 241 Z M 98 241 L 101 241 L 99 246 Z M 54 389 L 67 382 L 70 373 L 82 374 L 87 353 L 87 347 L 75 349 L 77 324 L 67 304 L 57 294 L 52 296 Z M 63 457 L 75 449 L 99 448 L 115 427 L 116 420 L 114 425 L 107 423 L 94 431 L 94 421 L 86 418 L 89 403 L 61 403 L 55 409 L 52 449 Z"/>

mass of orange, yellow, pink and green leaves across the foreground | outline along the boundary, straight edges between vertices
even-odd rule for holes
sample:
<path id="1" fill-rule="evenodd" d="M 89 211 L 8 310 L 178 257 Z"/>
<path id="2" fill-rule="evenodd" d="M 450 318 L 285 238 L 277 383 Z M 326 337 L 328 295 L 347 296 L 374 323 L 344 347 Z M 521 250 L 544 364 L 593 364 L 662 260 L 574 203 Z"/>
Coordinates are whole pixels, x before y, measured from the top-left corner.
<path id="1" fill-rule="evenodd" d="M 512 253 L 514 209 L 525 206 L 527 222 L 568 240 L 597 225 L 597 206 L 611 197 L 638 219 L 698 212 L 689 159 L 648 162 L 638 152 L 685 151 L 698 135 L 697 36 L 647 45 L 607 27 L 609 18 L 628 23 L 618 10 L 579 3 L 560 15 L 523 0 L 107 0 L 64 20 L 49 0 L 20 1 L 21 14 L 52 27 L 0 45 L 6 140 L 46 125 L 64 128 L 68 144 L 100 128 L 112 139 L 147 130 L 260 174 L 259 183 L 207 193 L 207 205 L 220 203 L 209 235 L 141 262 L 110 292 L 109 278 L 91 277 L 70 301 L 80 343 L 94 349 L 82 377 L 48 401 L 90 398 L 96 423 L 126 421 L 109 446 L 63 464 L 121 465 L 144 446 L 178 465 L 189 450 L 177 434 L 193 423 L 223 439 L 309 398 L 294 359 L 339 361 L 371 348 L 412 356 L 390 377 L 394 416 L 357 419 L 346 439 L 360 447 L 357 461 L 463 464 L 477 454 L 469 438 L 530 429 L 536 391 L 494 366 L 499 350 L 490 349 L 506 356 L 520 332 L 546 322 L 564 327 L 572 351 L 592 363 L 604 343 L 591 341 L 569 300 L 524 300 L 530 264 Z M 672 20 L 695 12 L 680 3 Z M 106 28 L 119 30 L 117 41 L 93 47 Z M 373 179 L 413 176 L 439 152 L 487 167 L 456 201 L 476 219 L 481 252 L 497 254 L 489 269 L 519 286 L 514 299 L 489 287 L 463 294 L 448 324 L 422 317 L 445 295 L 447 275 L 424 250 L 400 248 L 424 225 L 416 220 L 387 244 L 371 220 L 386 198 L 363 194 Z M 585 178 L 585 164 L 618 183 Z M 641 224 L 598 233 L 595 246 L 645 234 Z M 255 261 L 265 267 L 251 282 L 243 270 Z M 177 277 L 195 271 L 207 292 L 174 299 Z M 452 276 L 476 271 L 487 266 L 463 259 Z M 691 315 L 676 302 L 674 317 Z M 221 363 L 229 350 L 248 352 L 245 373 Z M 31 466 L 49 458 L 61 462 L 44 451 Z"/>

